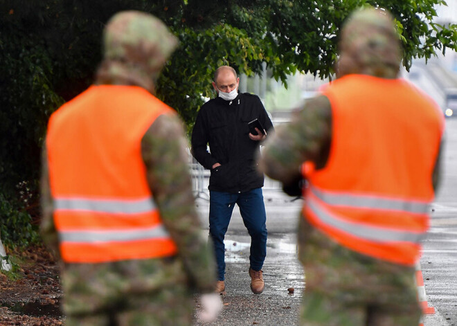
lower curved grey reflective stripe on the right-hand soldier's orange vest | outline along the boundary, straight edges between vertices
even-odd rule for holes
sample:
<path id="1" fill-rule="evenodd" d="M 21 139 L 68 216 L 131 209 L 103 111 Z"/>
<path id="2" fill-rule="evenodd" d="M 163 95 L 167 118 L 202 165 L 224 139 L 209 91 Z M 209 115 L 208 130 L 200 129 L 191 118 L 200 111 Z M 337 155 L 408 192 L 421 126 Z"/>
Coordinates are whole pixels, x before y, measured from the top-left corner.
<path id="1" fill-rule="evenodd" d="M 415 242 L 420 243 L 425 233 L 414 233 L 405 230 L 393 230 L 391 228 L 382 228 L 379 226 L 368 226 L 358 224 L 352 221 L 345 221 L 341 217 L 330 214 L 317 203 L 312 197 L 307 198 L 307 206 L 314 212 L 324 224 L 337 228 L 343 232 L 354 235 L 362 239 L 368 239 L 375 242 Z"/>

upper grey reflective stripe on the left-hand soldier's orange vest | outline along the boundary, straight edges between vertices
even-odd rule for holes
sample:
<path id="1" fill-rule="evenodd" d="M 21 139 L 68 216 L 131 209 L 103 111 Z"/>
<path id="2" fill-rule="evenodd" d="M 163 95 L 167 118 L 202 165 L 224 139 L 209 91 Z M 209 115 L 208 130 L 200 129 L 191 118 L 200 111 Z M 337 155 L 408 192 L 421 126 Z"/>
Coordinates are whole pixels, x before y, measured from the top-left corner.
<path id="1" fill-rule="evenodd" d="M 86 198 L 55 198 L 55 210 L 84 210 L 113 214 L 138 214 L 156 208 L 152 197 L 137 200 L 97 200 Z"/>

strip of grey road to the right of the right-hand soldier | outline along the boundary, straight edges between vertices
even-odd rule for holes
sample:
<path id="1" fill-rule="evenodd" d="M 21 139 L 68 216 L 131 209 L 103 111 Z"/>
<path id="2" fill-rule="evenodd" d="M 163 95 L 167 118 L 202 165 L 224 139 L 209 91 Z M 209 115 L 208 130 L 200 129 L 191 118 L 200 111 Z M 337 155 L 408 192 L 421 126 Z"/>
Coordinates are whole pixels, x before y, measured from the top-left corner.
<path id="1" fill-rule="evenodd" d="M 438 325 L 456 326 L 457 118 L 446 119 L 445 137 L 443 176 L 432 206 L 431 230 L 424 241 L 421 266 L 429 306 L 444 318 Z"/>

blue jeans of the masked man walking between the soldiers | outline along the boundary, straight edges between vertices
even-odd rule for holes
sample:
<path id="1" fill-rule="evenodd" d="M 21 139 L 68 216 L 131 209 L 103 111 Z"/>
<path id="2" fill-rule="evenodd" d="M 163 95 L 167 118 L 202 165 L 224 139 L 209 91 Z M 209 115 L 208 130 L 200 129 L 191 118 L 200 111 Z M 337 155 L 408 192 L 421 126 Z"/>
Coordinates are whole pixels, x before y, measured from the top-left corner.
<path id="1" fill-rule="evenodd" d="M 213 239 L 219 280 L 225 280 L 224 237 L 235 203 L 240 208 L 244 226 L 251 235 L 249 262 L 251 269 L 260 271 L 267 255 L 267 214 L 262 188 L 232 194 L 210 190 L 210 237 Z"/>

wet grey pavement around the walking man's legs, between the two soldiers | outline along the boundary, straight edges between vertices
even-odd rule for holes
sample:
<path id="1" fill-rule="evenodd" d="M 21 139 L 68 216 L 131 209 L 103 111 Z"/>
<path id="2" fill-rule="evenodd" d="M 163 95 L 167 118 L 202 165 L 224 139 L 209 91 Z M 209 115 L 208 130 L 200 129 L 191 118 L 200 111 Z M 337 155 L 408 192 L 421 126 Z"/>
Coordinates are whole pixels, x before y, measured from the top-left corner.
<path id="1" fill-rule="evenodd" d="M 298 325 L 298 309 L 305 286 L 303 268 L 296 259 L 296 221 L 301 201 L 291 203 L 291 198 L 278 190 L 264 190 L 264 198 L 269 233 L 267 258 L 262 269 L 264 292 L 256 295 L 249 288 L 251 238 L 235 208 L 225 241 L 224 310 L 215 323 L 195 325 Z M 203 225 L 208 229 L 208 201 L 197 199 L 197 204 Z M 289 293 L 291 288 L 293 293 Z"/>

